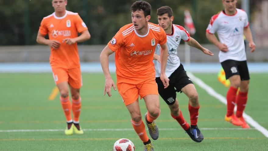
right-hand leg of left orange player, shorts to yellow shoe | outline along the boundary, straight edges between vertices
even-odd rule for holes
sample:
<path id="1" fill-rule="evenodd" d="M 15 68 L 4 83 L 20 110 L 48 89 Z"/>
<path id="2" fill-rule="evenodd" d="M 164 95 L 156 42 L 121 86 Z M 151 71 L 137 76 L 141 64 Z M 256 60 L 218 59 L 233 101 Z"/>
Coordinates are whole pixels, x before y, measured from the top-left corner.
<path id="1" fill-rule="evenodd" d="M 75 125 L 74 132 L 76 134 L 83 134 L 83 130 L 79 125 L 79 116 L 81 112 L 81 97 L 80 97 L 80 87 L 82 85 L 81 70 L 80 68 L 73 68 L 68 70 L 69 75 L 69 86 L 72 95 L 72 114 L 73 123 Z"/>

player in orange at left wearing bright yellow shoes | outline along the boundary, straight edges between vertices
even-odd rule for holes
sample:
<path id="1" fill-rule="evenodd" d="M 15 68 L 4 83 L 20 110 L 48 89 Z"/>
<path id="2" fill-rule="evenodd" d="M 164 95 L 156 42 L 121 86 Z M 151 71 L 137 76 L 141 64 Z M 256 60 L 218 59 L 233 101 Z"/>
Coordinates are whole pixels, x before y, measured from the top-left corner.
<path id="1" fill-rule="evenodd" d="M 50 65 L 67 120 L 66 135 L 83 134 L 79 126 L 82 86 L 77 42 L 90 39 L 90 33 L 78 13 L 66 10 L 67 0 L 52 0 L 55 12 L 41 21 L 36 41 L 51 47 Z M 81 33 L 78 36 L 78 33 Z M 45 38 L 48 34 L 49 39 Z M 72 105 L 69 100 L 69 88 Z M 71 115 L 73 113 L 73 119 Z"/>

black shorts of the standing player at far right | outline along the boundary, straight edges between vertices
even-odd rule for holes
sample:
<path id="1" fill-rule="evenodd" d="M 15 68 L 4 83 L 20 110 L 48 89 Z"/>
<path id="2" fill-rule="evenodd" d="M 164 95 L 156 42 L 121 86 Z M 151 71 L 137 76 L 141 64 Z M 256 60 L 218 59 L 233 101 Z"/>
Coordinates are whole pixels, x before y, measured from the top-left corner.
<path id="1" fill-rule="evenodd" d="M 249 80 L 249 69 L 247 61 L 225 60 L 221 63 L 225 77 L 228 79 L 233 75 L 240 75 L 241 80 Z"/>

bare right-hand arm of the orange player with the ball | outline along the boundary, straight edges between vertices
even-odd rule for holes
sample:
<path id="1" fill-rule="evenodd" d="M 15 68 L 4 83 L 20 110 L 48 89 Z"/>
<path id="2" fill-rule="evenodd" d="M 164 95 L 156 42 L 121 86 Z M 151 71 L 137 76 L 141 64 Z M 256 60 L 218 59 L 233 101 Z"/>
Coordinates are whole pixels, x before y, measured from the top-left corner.
<path id="1" fill-rule="evenodd" d="M 169 79 L 166 75 L 166 65 L 168 60 L 168 46 L 167 43 L 160 45 L 160 62 L 161 62 L 161 71 L 160 71 L 160 80 L 164 84 L 164 88 L 168 88 L 169 86 Z"/>

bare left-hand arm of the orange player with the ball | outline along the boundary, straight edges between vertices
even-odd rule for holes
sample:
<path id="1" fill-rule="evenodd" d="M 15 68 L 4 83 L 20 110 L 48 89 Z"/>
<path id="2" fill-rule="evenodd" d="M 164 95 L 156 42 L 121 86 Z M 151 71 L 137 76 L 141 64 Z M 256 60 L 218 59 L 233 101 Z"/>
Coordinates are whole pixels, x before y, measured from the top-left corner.
<path id="1" fill-rule="evenodd" d="M 103 71 L 104 76 L 105 76 L 105 86 L 104 86 L 103 95 L 105 95 L 105 93 L 107 93 L 109 97 L 112 96 L 111 95 L 111 87 L 114 87 L 114 90 L 116 91 L 115 83 L 112 80 L 111 75 L 110 75 L 110 71 L 109 71 L 108 57 L 112 53 L 114 53 L 114 52 L 108 47 L 108 45 L 106 45 L 106 47 L 102 50 L 101 55 L 100 55 L 101 67 L 102 67 L 102 71 Z"/>

